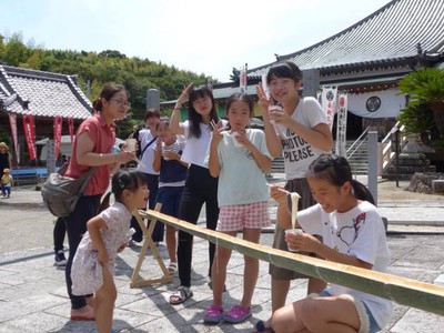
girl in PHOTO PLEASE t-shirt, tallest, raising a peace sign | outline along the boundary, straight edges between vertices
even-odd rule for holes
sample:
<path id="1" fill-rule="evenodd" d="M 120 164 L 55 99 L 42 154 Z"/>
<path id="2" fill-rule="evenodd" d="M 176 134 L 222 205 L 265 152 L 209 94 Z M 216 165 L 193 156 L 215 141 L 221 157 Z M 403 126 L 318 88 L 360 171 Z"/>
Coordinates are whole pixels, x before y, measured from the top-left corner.
<path id="1" fill-rule="evenodd" d="M 273 64 L 266 74 L 270 97 L 264 88 L 256 85 L 259 105 L 264 121 L 266 147 L 272 157 L 283 157 L 285 165 L 285 189 L 297 192 L 302 199 L 299 209 L 315 203 L 305 179 L 310 163 L 321 153 L 330 152 L 333 138 L 326 122 L 326 114 L 315 98 L 299 95 L 302 87 L 302 71 L 291 61 Z M 278 208 L 280 211 L 286 206 Z M 284 230 L 276 226 L 273 248 L 289 251 Z M 305 253 L 309 254 L 309 253 Z M 313 254 L 311 254 L 313 255 Z M 270 263 L 272 312 L 285 305 L 290 281 L 309 279 L 307 294 L 320 292 L 325 283 L 297 272 Z M 270 330 L 270 320 L 259 321 L 256 332 Z"/>

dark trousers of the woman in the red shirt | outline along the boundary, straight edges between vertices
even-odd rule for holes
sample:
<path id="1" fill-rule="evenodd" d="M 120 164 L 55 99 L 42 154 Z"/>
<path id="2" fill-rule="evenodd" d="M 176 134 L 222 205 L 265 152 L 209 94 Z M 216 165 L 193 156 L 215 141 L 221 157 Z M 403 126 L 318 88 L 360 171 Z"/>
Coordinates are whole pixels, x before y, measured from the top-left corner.
<path id="1" fill-rule="evenodd" d="M 87 300 L 84 296 L 75 296 L 72 294 L 71 268 L 77 248 L 79 248 L 80 241 L 82 240 L 83 234 L 87 232 L 87 222 L 91 218 L 95 216 L 102 195 L 100 194 L 81 196 L 75 205 L 75 210 L 68 218 L 63 218 L 67 225 L 68 242 L 70 246 L 70 254 L 64 273 L 68 295 L 71 299 L 71 307 L 73 310 L 81 309 L 87 305 Z"/>

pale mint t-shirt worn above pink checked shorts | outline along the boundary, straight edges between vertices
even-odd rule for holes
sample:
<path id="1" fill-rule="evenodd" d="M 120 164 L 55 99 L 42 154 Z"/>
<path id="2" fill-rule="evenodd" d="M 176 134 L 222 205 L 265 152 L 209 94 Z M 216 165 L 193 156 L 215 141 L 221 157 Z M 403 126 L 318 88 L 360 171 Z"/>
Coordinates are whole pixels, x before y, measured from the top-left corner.
<path id="1" fill-rule="evenodd" d="M 218 145 L 219 174 L 218 203 L 219 206 L 263 202 L 269 200 L 266 179 L 253 154 L 243 147 L 234 147 L 234 138 L 229 132 L 222 132 L 223 139 Z M 261 130 L 249 129 L 249 140 L 261 153 L 271 155 L 266 149 L 265 134 Z M 206 152 L 205 167 L 210 161 L 210 147 Z"/>

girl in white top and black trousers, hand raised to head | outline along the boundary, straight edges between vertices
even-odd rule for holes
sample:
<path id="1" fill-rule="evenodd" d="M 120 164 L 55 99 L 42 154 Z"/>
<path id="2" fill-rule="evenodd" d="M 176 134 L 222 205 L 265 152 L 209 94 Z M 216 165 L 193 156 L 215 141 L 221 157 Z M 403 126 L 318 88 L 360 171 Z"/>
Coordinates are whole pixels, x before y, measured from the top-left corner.
<path id="1" fill-rule="evenodd" d="M 180 110 L 186 101 L 189 103 L 188 120 L 181 122 Z M 193 89 L 193 83 L 190 83 L 175 103 L 170 124 L 173 133 L 184 135 L 186 143 L 181 160 L 190 164 L 182 192 L 179 219 L 195 224 L 205 203 L 206 228 L 215 230 L 219 218 L 218 178 L 212 176 L 204 164 L 213 131 L 212 124 L 219 129 L 226 125 L 226 121 L 219 119 L 212 91 L 208 87 Z M 170 296 L 171 304 L 181 304 L 193 295 L 190 291 L 193 236 L 180 230 L 178 241 L 181 285 Z M 209 276 L 211 276 L 214 252 L 215 245 L 209 242 Z M 211 287 L 211 281 L 209 285 Z"/>

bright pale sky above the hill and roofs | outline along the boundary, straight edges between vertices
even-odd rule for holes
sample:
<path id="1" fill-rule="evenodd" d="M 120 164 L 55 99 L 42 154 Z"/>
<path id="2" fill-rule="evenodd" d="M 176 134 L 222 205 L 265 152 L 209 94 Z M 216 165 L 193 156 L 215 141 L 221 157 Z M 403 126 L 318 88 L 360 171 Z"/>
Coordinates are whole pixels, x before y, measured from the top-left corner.
<path id="1" fill-rule="evenodd" d="M 354 24 L 390 0 L 0 0 L 0 33 L 46 49 L 118 50 L 229 80 Z"/>

